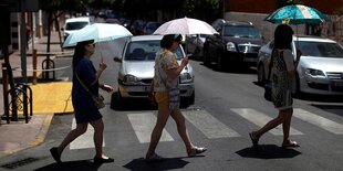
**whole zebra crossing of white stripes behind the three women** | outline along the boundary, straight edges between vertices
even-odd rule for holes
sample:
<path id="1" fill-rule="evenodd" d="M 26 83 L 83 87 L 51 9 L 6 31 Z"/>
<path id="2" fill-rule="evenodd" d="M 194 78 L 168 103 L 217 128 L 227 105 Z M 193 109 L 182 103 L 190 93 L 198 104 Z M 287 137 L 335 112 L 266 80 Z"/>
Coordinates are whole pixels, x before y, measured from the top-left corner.
<path id="1" fill-rule="evenodd" d="M 252 125 L 256 125 L 258 127 L 264 126 L 267 121 L 272 119 L 267 114 L 263 114 L 252 108 L 231 108 L 230 110 L 240 118 L 246 119 Z M 207 110 L 184 110 L 183 114 L 186 120 L 189 121 L 200 132 L 202 132 L 202 135 L 208 139 L 235 138 L 245 136 L 236 131 L 235 128 L 230 128 L 230 126 L 217 119 L 214 115 L 211 115 Z M 153 111 L 133 113 L 127 114 L 126 116 L 139 143 L 149 142 L 150 133 L 156 124 L 155 113 Z M 297 118 L 303 120 L 310 125 L 314 125 L 331 133 L 343 135 L 342 124 L 335 122 L 320 115 L 313 114 L 311 111 L 301 108 L 294 108 L 293 116 L 294 116 L 293 119 Z M 75 120 L 73 120 L 72 129 L 74 129 L 75 126 L 76 126 Z M 92 126 L 89 126 L 87 129 L 89 130 L 84 135 L 80 136 L 70 145 L 70 149 L 94 148 L 93 143 L 94 129 Z M 273 136 L 282 136 L 281 126 L 270 130 L 269 133 Z M 291 127 L 291 135 L 302 136 L 304 135 L 304 132 L 301 132 L 300 130 L 297 130 Z M 175 139 L 173 138 L 173 136 L 166 129 L 164 129 L 160 141 L 174 141 L 174 140 Z M 105 146 L 105 140 L 103 146 Z"/>

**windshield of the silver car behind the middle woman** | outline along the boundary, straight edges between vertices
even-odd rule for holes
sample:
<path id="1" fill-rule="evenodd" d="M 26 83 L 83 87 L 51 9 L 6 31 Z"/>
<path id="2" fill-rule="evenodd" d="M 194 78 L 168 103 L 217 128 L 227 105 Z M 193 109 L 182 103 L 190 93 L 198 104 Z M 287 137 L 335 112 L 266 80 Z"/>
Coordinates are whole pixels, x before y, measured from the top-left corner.
<path id="1" fill-rule="evenodd" d="M 156 53 L 160 50 L 158 41 L 131 42 L 125 52 L 126 61 L 155 61 Z M 180 46 L 175 52 L 177 60 L 181 60 L 183 51 Z"/>

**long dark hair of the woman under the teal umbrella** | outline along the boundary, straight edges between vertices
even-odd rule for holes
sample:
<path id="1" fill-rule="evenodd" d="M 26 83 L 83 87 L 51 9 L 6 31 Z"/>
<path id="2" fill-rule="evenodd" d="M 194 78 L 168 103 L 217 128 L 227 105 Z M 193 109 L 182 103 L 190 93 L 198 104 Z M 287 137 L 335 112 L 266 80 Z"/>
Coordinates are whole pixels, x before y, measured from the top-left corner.
<path id="1" fill-rule="evenodd" d="M 291 50 L 293 30 L 288 24 L 280 24 L 274 32 L 274 49 Z"/>

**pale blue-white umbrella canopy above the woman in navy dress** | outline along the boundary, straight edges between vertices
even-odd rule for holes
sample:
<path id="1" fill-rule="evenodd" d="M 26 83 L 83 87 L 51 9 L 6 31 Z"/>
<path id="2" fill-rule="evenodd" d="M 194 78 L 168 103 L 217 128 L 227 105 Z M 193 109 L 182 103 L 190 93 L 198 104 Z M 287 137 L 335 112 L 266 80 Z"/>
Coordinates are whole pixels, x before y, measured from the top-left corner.
<path id="1" fill-rule="evenodd" d="M 63 43 L 63 47 L 75 46 L 77 42 L 89 40 L 98 43 L 132 35 L 126 28 L 119 24 L 94 23 L 69 35 Z"/>

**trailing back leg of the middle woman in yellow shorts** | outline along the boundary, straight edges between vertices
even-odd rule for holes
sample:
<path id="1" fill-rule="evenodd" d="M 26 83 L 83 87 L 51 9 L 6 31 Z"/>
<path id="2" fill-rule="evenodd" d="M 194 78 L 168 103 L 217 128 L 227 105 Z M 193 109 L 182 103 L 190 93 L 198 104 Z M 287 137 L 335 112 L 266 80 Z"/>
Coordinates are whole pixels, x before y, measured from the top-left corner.
<path id="1" fill-rule="evenodd" d="M 156 121 L 155 128 L 154 128 L 154 130 L 152 132 L 152 137 L 150 137 L 150 145 L 149 145 L 149 148 L 146 152 L 147 159 L 150 158 L 150 156 L 155 152 L 155 149 L 156 149 L 157 143 L 158 143 L 160 136 L 162 136 L 162 131 L 165 128 L 166 122 L 169 118 L 169 114 L 170 114 L 169 110 L 164 110 L 164 111 L 158 110 L 157 121 Z"/>

